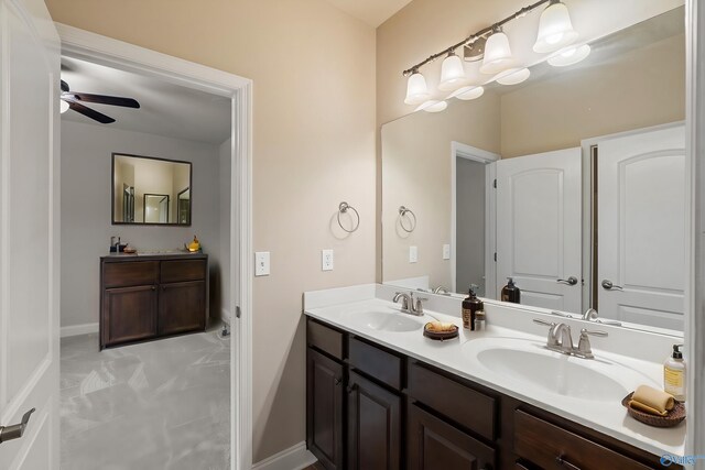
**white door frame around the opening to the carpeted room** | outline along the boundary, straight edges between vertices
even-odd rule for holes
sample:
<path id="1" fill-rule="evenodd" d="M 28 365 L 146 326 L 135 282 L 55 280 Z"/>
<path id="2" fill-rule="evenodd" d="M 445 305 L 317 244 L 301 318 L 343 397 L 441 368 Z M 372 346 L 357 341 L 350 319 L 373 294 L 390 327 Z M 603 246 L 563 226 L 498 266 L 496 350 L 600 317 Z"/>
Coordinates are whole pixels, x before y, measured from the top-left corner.
<path id="1" fill-rule="evenodd" d="M 55 23 L 62 54 L 231 99 L 230 280 L 231 470 L 252 467 L 252 80 Z"/>

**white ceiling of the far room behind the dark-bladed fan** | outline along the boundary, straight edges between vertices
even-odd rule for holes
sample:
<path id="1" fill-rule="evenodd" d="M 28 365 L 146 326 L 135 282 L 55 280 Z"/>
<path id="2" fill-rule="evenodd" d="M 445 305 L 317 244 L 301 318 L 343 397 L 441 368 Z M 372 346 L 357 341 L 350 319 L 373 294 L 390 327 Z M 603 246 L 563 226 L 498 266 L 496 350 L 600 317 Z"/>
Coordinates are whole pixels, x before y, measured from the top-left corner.
<path id="1" fill-rule="evenodd" d="M 220 144 L 230 136 L 230 99 L 158 78 L 62 57 L 62 79 L 72 91 L 134 98 L 139 109 L 86 103 L 116 122 L 101 124 L 68 110 L 62 119 Z"/>

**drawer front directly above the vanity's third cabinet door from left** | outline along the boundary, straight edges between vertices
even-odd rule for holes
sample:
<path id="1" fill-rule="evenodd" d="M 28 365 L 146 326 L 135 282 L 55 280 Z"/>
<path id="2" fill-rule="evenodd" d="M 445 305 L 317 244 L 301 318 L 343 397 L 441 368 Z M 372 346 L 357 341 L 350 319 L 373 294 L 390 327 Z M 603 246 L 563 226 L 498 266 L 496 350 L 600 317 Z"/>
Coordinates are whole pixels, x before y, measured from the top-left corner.
<path id="1" fill-rule="evenodd" d="M 478 435 L 495 440 L 497 405 L 494 397 L 437 374 L 417 362 L 409 363 L 408 389 L 409 396 Z"/>

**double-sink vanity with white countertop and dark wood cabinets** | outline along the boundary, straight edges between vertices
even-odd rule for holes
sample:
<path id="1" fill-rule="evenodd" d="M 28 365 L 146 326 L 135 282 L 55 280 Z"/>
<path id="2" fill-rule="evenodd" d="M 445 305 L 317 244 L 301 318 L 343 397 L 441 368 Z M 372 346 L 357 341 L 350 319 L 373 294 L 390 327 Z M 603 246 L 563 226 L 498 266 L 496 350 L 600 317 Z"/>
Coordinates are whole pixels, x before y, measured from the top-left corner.
<path id="1" fill-rule="evenodd" d="M 683 455 L 685 423 L 652 428 L 620 404 L 640 383 L 658 386 L 659 364 L 601 349 L 640 348 L 652 340 L 643 332 L 619 338 L 600 325 L 617 338 L 593 339 L 596 359 L 566 357 L 546 350 L 547 328 L 532 324 L 556 321 L 550 313 L 497 303 L 486 304 L 486 331 L 434 341 L 425 321 L 462 328 L 460 318 L 402 314 L 381 285 L 357 294 L 304 296 L 306 442 L 327 469 L 660 469 L 661 456 Z M 585 325 L 572 325 L 577 340 Z"/>

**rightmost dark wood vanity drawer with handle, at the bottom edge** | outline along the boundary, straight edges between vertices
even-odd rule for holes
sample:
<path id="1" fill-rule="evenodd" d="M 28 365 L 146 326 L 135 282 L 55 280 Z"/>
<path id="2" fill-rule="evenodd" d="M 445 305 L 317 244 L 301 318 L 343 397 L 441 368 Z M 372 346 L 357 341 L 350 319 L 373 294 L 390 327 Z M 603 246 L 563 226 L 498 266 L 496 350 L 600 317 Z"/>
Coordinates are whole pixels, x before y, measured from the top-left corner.
<path id="1" fill-rule="evenodd" d="M 521 409 L 514 412 L 514 453 L 546 470 L 651 468 Z"/>

